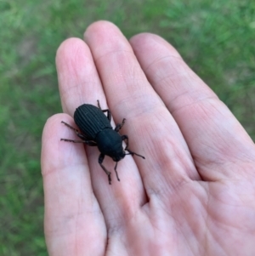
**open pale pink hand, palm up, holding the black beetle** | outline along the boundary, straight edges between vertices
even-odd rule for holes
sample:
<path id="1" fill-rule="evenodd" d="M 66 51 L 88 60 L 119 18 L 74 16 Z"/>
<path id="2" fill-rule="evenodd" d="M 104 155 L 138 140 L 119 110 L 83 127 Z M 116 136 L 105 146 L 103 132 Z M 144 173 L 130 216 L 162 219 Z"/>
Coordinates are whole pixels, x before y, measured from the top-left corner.
<path id="1" fill-rule="evenodd" d="M 255 255 L 255 146 L 228 107 L 161 37 L 129 41 L 106 21 L 59 46 L 63 114 L 42 134 L 50 256 Z M 146 159 L 105 157 L 78 139 L 84 103 L 110 108 Z M 107 105 L 106 105 L 107 103 Z"/>

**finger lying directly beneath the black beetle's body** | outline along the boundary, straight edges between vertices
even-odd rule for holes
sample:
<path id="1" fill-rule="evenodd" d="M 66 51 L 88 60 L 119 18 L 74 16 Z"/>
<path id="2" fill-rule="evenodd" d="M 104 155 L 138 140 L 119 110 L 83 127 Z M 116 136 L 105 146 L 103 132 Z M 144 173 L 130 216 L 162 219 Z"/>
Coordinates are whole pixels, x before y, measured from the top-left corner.
<path id="1" fill-rule="evenodd" d="M 59 47 L 56 62 L 62 105 L 67 113 L 73 116 L 79 105 L 84 103 L 96 105 L 97 100 L 103 110 L 108 108 L 94 57 L 86 43 L 77 38 L 65 41 Z M 121 179 L 121 182 L 118 182 L 114 175 L 112 159 L 105 156 L 103 164 L 111 172 L 112 177 L 112 184 L 109 185 L 107 176 L 99 165 L 99 150 L 97 147 L 85 146 L 85 148 L 94 194 L 103 212 L 109 213 L 109 219 L 120 219 L 119 214 L 122 213 L 119 208 L 122 208 L 127 215 L 139 208 L 139 205 L 145 201 L 145 194 L 133 158 L 126 156 L 118 163 L 117 171 Z M 115 214 L 117 216 L 113 218 Z"/>

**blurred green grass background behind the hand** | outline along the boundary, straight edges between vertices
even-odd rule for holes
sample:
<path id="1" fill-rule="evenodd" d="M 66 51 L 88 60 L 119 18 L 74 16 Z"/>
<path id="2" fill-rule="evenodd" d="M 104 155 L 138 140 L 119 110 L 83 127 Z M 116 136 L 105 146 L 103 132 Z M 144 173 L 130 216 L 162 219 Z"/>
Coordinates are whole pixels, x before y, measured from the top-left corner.
<path id="1" fill-rule="evenodd" d="M 40 148 L 61 111 L 54 57 L 95 20 L 166 38 L 255 139 L 254 1 L 0 0 L 0 255 L 48 255 Z"/>

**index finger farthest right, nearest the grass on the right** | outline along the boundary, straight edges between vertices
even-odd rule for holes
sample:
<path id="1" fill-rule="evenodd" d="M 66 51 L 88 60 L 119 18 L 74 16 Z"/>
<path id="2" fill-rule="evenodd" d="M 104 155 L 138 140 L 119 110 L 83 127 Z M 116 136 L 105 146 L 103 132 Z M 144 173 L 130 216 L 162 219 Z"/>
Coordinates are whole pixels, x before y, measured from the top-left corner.
<path id="1" fill-rule="evenodd" d="M 149 33 L 130 42 L 146 77 L 178 123 L 202 179 L 243 175 L 236 162 L 246 162 L 249 172 L 255 159 L 252 139 L 176 49 Z"/>

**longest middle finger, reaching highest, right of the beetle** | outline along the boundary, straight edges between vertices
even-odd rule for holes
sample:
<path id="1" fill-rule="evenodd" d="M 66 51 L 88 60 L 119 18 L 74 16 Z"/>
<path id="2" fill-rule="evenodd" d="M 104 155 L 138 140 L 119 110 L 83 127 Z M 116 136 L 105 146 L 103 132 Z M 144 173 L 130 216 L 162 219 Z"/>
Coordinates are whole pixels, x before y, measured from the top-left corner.
<path id="1" fill-rule="evenodd" d="M 89 26 L 85 41 L 94 56 L 107 102 L 116 120 L 127 118 L 130 137 L 147 193 L 168 190 L 185 179 L 200 179 L 178 125 L 144 76 L 133 49 L 111 22 Z"/>

